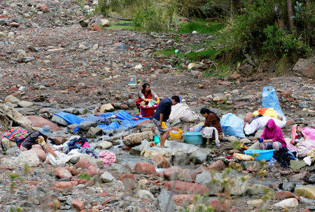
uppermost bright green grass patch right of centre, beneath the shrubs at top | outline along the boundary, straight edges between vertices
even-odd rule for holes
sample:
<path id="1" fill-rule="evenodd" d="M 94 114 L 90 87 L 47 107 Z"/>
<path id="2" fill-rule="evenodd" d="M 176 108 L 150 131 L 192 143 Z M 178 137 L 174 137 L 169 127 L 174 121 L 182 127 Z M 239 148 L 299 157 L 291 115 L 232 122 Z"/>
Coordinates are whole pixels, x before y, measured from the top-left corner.
<path id="1" fill-rule="evenodd" d="M 181 22 L 179 24 L 179 33 L 215 33 L 225 27 L 225 24 L 219 22 L 207 22 L 205 20 L 193 20 L 193 22 Z"/>

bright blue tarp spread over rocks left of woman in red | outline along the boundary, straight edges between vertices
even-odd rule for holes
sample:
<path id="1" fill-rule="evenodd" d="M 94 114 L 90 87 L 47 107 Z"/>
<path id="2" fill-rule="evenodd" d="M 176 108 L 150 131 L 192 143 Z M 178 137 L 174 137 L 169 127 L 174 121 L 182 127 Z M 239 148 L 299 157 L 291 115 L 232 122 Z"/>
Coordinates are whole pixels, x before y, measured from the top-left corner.
<path id="1" fill-rule="evenodd" d="M 118 112 L 108 112 L 108 113 L 101 114 L 100 116 L 87 116 L 85 118 L 80 118 L 74 114 L 69 114 L 66 112 L 59 112 L 59 113 L 56 113 L 55 115 L 61 117 L 69 124 L 76 123 L 78 125 L 83 121 L 98 121 L 98 120 L 104 119 L 104 117 L 109 117 L 113 115 L 117 116 L 116 119 L 121 120 L 121 125 L 118 124 L 117 122 L 113 122 L 110 125 L 105 125 L 105 124 L 98 125 L 97 127 L 101 128 L 103 131 L 113 130 L 113 129 L 126 129 L 130 127 L 134 127 L 134 126 L 137 126 L 138 123 L 148 119 L 148 118 L 143 118 L 139 116 L 132 117 L 132 115 L 130 115 L 128 112 L 125 112 L 125 110 L 120 110 Z M 138 118 L 139 120 L 134 120 L 132 118 Z M 75 131 L 77 130 L 79 129 L 77 128 Z"/>

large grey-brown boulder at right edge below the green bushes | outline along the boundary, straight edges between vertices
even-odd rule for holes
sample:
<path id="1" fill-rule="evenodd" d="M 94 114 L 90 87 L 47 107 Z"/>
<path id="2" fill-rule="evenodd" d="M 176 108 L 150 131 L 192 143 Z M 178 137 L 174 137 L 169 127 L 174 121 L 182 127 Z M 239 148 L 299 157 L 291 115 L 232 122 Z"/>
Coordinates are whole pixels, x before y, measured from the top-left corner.
<path id="1" fill-rule="evenodd" d="M 315 79 L 315 56 L 308 59 L 300 58 L 294 65 L 295 73 L 302 73 L 305 77 Z"/>

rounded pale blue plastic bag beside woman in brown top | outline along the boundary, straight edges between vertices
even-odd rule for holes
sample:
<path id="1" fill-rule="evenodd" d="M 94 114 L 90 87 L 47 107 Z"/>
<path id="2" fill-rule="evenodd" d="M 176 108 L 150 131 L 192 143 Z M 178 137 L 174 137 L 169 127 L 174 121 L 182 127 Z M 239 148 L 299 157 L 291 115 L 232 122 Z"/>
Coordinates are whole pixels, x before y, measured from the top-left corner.
<path id="1" fill-rule="evenodd" d="M 220 121 L 224 135 L 234 135 L 235 137 L 245 137 L 243 127 L 244 121 L 235 114 L 224 114 Z"/>

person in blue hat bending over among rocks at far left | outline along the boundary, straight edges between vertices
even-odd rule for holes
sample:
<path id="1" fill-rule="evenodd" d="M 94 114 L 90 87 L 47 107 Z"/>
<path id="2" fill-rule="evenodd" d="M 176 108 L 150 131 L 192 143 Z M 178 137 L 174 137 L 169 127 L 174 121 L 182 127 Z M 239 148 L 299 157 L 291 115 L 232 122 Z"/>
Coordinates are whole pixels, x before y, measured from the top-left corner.
<path id="1" fill-rule="evenodd" d="M 48 144 L 48 136 L 52 136 L 52 133 L 50 132 L 50 126 L 45 125 L 43 126 L 43 128 L 31 133 L 31 135 L 26 137 L 24 142 L 22 142 L 20 150 L 27 151 L 31 149 L 32 145 L 39 144 L 45 152 L 51 153 L 52 156 L 56 157 L 56 153 L 51 149 L 50 145 Z"/>

